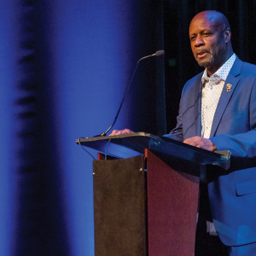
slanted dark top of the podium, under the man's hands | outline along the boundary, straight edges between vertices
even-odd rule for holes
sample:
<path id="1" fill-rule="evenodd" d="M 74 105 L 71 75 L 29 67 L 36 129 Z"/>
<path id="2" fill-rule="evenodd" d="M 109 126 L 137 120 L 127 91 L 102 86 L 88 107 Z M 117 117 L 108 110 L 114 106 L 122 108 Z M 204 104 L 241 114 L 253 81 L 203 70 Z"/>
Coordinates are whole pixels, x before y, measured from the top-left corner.
<path id="1" fill-rule="evenodd" d="M 144 148 L 160 154 L 172 155 L 183 160 L 189 160 L 201 165 L 222 165 L 230 160 L 230 151 L 211 152 L 180 143 L 168 137 L 158 137 L 145 132 L 135 132 L 107 137 L 79 138 L 76 143 L 93 148 L 102 154 L 117 158 L 129 158 L 144 154 Z"/>

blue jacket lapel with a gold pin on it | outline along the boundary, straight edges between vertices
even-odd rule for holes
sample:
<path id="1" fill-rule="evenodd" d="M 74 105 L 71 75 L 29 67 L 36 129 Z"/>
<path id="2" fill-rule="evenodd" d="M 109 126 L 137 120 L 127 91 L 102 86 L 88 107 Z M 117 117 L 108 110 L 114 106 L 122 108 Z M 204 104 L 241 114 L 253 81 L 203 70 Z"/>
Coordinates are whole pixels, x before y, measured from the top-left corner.
<path id="1" fill-rule="evenodd" d="M 236 61 L 230 69 L 230 73 L 225 81 L 224 88 L 222 90 L 221 96 L 218 101 L 218 106 L 216 108 L 216 112 L 214 114 L 214 118 L 212 121 L 212 131 L 210 137 L 213 137 L 216 134 L 220 119 L 222 118 L 225 109 L 227 108 L 230 98 L 236 89 L 236 85 L 240 80 L 242 61 L 236 57 Z M 230 91 L 227 90 L 226 85 L 231 84 Z"/>

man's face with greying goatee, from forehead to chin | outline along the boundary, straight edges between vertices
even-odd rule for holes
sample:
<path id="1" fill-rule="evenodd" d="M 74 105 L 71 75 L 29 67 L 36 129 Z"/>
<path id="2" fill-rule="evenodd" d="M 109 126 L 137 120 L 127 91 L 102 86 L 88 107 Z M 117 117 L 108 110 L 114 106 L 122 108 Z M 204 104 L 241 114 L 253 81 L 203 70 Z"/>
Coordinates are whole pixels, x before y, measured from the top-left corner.
<path id="1" fill-rule="evenodd" d="M 189 26 L 190 45 L 195 60 L 201 67 L 216 72 L 226 61 L 228 47 L 224 26 L 205 15 L 197 15 Z"/>

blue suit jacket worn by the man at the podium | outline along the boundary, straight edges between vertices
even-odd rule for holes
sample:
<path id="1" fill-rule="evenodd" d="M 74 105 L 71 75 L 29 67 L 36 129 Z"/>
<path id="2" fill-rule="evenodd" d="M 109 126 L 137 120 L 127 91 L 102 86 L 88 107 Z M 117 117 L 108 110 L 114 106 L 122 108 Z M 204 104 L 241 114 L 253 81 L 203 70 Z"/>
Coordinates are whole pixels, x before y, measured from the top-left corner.
<path id="1" fill-rule="evenodd" d="M 201 77 L 183 88 L 177 126 L 166 137 L 201 136 Z M 231 84 L 227 91 L 226 84 Z M 236 61 L 225 81 L 212 122 L 211 141 L 230 150 L 225 171 L 207 166 L 208 194 L 218 236 L 228 246 L 256 241 L 256 66 Z"/>

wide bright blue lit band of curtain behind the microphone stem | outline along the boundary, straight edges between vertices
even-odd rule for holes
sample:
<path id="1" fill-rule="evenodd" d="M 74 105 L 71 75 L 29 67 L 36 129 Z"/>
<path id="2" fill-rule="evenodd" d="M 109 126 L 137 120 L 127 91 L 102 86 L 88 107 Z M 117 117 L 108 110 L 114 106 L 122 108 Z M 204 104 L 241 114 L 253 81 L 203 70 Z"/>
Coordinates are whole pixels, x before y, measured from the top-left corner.
<path id="1" fill-rule="evenodd" d="M 59 155 L 66 174 L 69 234 L 75 256 L 94 254 L 92 158 L 75 139 L 113 122 L 131 78 L 131 1 L 51 1 L 49 36 Z M 129 115 L 124 108 L 117 127 Z M 93 154 L 96 156 L 95 152 Z"/>

